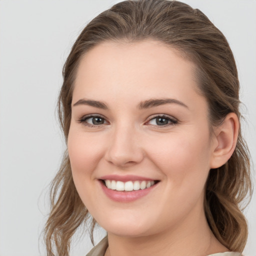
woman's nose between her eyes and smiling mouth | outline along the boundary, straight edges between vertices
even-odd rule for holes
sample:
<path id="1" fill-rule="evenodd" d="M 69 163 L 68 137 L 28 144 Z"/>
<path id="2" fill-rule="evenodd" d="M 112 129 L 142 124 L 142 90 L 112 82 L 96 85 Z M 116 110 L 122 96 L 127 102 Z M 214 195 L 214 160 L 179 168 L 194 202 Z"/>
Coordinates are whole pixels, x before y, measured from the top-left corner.
<path id="1" fill-rule="evenodd" d="M 128 167 L 144 157 L 139 134 L 130 125 L 115 127 L 109 136 L 105 159 L 118 167 Z"/>

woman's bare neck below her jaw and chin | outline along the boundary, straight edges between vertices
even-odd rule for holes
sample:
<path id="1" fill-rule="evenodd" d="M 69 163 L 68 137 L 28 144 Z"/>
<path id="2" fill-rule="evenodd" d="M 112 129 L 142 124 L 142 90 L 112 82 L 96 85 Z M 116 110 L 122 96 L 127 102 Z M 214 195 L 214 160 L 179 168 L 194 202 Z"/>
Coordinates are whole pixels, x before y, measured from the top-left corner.
<path id="1" fill-rule="evenodd" d="M 198 212 L 197 212 L 198 213 Z M 107 256 L 205 256 L 228 249 L 212 234 L 205 215 L 193 215 L 184 219 L 171 230 L 136 237 L 118 236 L 108 233 Z"/>

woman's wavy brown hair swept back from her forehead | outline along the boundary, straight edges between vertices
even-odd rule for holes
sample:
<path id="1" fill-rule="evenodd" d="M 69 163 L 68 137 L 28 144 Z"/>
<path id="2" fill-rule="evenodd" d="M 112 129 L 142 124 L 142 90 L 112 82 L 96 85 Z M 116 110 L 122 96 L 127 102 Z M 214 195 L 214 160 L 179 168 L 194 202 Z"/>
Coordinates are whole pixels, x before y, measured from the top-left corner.
<path id="1" fill-rule="evenodd" d="M 58 99 L 59 120 L 66 139 L 72 90 L 83 54 L 106 40 L 144 39 L 170 45 L 197 65 L 198 87 L 208 100 L 211 126 L 218 125 L 229 112 L 241 118 L 234 57 L 226 38 L 212 22 L 200 10 L 179 1 L 127 0 L 90 21 L 67 57 Z M 216 238 L 230 250 L 241 252 L 245 246 L 247 223 L 240 207 L 250 195 L 249 152 L 239 130 L 230 159 L 209 171 L 204 198 L 208 224 Z M 67 256 L 72 235 L 88 215 L 75 189 L 68 154 L 65 153 L 51 183 L 51 211 L 44 230 L 47 255 L 54 255 L 56 250 L 57 255 Z M 91 231 L 94 225 L 93 220 Z"/>

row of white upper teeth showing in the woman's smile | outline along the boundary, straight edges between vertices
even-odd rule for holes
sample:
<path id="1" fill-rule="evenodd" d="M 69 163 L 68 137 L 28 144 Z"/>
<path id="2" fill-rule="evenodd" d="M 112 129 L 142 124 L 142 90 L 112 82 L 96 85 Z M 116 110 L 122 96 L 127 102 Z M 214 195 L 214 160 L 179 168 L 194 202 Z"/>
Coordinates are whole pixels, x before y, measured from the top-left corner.
<path id="1" fill-rule="evenodd" d="M 115 181 L 115 180 L 105 180 L 106 187 L 112 190 L 117 190 L 117 191 L 132 191 L 132 190 L 139 190 L 139 189 L 145 189 L 149 188 L 150 186 L 154 185 L 154 181 Z"/>

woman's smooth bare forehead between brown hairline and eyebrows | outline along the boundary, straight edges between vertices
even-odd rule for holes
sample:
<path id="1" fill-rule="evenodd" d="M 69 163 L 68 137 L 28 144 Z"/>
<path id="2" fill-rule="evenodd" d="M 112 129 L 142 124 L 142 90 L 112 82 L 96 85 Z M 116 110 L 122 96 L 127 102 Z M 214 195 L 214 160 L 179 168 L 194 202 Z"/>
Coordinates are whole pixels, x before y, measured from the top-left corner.
<path id="1" fill-rule="evenodd" d="M 197 94 L 195 68 L 176 49 L 159 41 L 103 42 L 81 58 L 73 101 L 122 97 L 131 102 L 166 96 L 189 100 Z"/>

